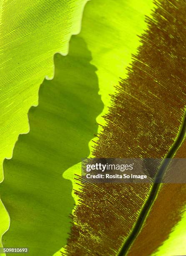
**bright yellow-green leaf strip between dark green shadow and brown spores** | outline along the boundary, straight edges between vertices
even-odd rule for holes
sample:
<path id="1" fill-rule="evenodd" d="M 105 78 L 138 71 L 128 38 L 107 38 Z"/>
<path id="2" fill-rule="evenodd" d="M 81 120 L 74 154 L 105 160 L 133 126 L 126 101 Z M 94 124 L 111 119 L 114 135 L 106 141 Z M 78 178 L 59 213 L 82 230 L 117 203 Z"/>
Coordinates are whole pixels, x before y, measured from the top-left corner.
<path id="1" fill-rule="evenodd" d="M 111 105 L 114 85 L 121 75 L 126 77 L 125 68 L 131 61 L 131 54 L 141 44 L 138 35 L 146 29 L 145 15 L 150 15 L 151 8 L 152 0 L 93 0 L 85 5 L 80 36 L 92 53 L 91 63 L 98 68 L 99 92 L 104 103 L 102 113 L 96 118 L 99 132 L 106 123 L 103 115 Z M 95 141 L 96 138 L 89 143 L 90 156 Z M 74 174 L 81 174 L 80 163 L 63 174 L 73 182 L 73 189 L 79 189 Z M 78 203 L 78 196 L 73 193 L 73 197 Z"/>

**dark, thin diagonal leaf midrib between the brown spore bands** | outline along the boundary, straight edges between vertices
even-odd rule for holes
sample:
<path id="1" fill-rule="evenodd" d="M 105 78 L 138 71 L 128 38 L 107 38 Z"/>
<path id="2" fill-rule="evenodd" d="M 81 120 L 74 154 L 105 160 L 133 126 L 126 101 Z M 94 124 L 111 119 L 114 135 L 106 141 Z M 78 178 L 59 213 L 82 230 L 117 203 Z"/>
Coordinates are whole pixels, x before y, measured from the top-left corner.
<path id="1" fill-rule="evenodd" d="M 170 150 L 166 154 L 165 159 L 163 159 L 163 161 L 161 163 L 161 166 L 159 167 L 158 173 L 155 177 L 154 184 L 151 188 L 151 192 L 148 196 L 148 199 L 146 200 L 145 204 L 143 205 L 143 208 L 142 208 L 142 210 L 141 210 L 141 212 L 138 216 L 138 219 L 137 219 L 137 221 L 136 221 L 136 223 L 133 227 L 133 230 L 131 231 L 130 235 L 128 236 L 125 243 L 121 247 L 121 250 L 119 251 L 118 256 L 126 255 L 129 248 L 131 247 L 133 241 L 135 240 L 136 236 L 140 232 L 141 227 L 142 227 L 142 225 L 143 225 L 143 223 L 146 219 L 146 216 L 148 215 L 148 212 L 151 208 L 151 205 L 155 201 L 156 195 L 158 194 L 158 190 L 159 190 L 161 181 L 163 179 L 163 175 L 166 171 L 166 168 L 168 167 L 168 164 L 170 163 L 171 158 L 174 156 L 177 149 L 179 148 L 179 146 L 183 142 L 183 139 L 185 137 L 185 133 L 186 133 L 186 111 L 185 111 L 185 114 L 183 116 L 183 120 L 182 120 L 182 123 L 181 123 L 181 127 L 180 127 L 180 131 L 178 133 L 178 136 L 177 136 L 175 142 L 173 143 L 172 147 L 170 148 Z"/>

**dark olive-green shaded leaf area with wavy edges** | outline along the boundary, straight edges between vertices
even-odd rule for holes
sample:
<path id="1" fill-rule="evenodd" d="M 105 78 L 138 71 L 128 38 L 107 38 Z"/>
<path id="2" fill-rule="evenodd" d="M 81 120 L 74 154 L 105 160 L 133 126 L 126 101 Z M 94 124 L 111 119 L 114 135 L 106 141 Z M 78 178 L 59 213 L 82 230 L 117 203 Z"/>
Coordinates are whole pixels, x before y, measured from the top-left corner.
<path id="1" fill-rule="evenodd" d="M 89 155 L 103 109 L 90 61 L 79 36 L 71 38 L 68 56 L 55 54 L 55 76 L 44 80 L 39 105 L 28 114 L 30 132 L 20 135 L 13 159 L 4 162 L 0 192 L 10 215 L 4 247 L 28 247 L 35 256 L 53 255 L 66 244 L 74 201 L 62 174 Z"/>

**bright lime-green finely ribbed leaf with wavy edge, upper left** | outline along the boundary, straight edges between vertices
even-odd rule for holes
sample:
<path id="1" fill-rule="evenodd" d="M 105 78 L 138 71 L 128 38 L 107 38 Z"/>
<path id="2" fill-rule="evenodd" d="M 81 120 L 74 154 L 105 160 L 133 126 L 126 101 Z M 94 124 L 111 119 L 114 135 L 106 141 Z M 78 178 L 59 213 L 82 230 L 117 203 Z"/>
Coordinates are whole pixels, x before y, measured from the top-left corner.
<path id="1" fill-rule="evenodd" d="M 28 110 L 38 104 L 43 79 L 53 77 L 53 55 L 67 54 L 80 31 L 86 0 L 3 0 L 0 11 L 0 181 Z"/>

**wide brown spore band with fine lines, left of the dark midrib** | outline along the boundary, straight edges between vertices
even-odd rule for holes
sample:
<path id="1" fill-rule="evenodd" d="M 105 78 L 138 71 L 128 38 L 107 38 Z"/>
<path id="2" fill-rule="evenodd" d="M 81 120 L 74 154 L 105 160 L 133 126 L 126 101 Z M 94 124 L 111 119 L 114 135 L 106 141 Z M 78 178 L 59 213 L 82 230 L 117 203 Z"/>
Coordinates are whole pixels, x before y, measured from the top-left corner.
<path id="1" fill-rule="evenodd" d="M 185 17 L 185 0 L 156 2 L 153 18 L 146 19 L 148 29 L 141 36 L 143 44 L 133 56 L 128 77 L 121 80 L 117 94 L 112 96 L 106 126 L 94 148 L 95 157 L 163 158 L 170 151 L 186 105 Z M 80 192 L 76 192 L 80 205 L 74 212 L 75 224 L 65 255 L 117 255 L 149 197 L 151 186 L 82 184 Z M 161 203 L 157 197 L 156 204 Z M 183 203 L 180 201 L 180 205 Z M 173 225 L 175 221 L 163 230 L 156 228 L 153 250 L 163 243 Z"/>

